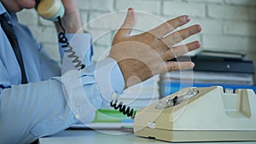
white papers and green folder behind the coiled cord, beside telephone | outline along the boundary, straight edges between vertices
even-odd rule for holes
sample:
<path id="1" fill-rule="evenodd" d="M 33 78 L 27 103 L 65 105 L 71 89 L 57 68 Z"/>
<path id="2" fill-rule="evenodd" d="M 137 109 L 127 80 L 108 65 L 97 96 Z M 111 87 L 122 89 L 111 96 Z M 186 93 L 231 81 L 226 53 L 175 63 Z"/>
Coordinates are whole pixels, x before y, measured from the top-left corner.
<path id="1" fill-rule="evenodd" d="M 123 103 L 123 106 L 131 107 L 134 111 L 137 111 L 143 107 L 147 107 L 154 101 L 158 101 L 160 98 L 160 76 L 154 76 L 147 81 L 131 86 L 129 89 L 125 89 L 122 95 L 117 96 L 118 104 Z M 105 102 L 100 110 L 96 112 L 95 123 L 132 123 L 133 120 L 130 117 L 125 116 L 119 110 L 115 110 L 110 107 L 109 102 Z"/>

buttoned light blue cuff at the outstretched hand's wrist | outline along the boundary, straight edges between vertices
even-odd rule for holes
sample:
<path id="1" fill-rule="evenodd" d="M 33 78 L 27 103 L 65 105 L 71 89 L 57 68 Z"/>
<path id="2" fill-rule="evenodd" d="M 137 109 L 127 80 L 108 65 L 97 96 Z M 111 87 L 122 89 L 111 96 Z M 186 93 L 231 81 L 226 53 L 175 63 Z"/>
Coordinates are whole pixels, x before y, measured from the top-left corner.
<path id="1" fill-rule="evenodd" d="M 125 80 L 116 60 L 108 57 L 96 64 L 95 78 L 100 93 L 105 100 L 110 101 L 114 93 L 122 94 Z"/>

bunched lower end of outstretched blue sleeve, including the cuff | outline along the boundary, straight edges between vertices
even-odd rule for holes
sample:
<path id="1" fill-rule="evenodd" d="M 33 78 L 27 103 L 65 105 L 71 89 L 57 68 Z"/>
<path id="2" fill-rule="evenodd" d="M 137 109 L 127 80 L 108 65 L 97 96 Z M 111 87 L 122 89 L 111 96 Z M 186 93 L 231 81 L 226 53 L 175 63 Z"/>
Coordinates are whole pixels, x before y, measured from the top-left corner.
<path id="1" fill-rule="evenodd" d="M 125 88 L 123 75 L 117 62 L 111 58 L 99 61 L 82 71 L 70 70 L 61 79 L 67 104 L 75 118 L 87 124 L 91 112 L 110 101 L 113 93 L 121 94 Z"/>

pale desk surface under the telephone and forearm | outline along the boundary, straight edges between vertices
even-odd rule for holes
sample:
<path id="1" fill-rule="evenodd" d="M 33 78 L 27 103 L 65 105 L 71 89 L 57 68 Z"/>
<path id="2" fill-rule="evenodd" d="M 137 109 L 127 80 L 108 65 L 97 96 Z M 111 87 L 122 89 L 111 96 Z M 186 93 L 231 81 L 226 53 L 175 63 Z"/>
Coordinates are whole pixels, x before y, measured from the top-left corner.
<path id="1" fill-rule="evenodd" d="M 154 139 L 147 139 L 143 137 L 138 137 L 133 135 L 132 133 L 125 133 L 119 130 L 65 130 L 59 134 L 52 135 L 49 137 L 44 137 L 39 139 L 40 144 L 102 144 L 102 143 L 111 143 L 111 144 L 146 144 L 146 143 L 154 143 L 154 144 L 164 144 L 169 143 L 166 141 L 158 141 Z M 216 144 L 216 142 L 207 142 L 200 144 Z M 218 142 L 224 144 L 245 144 L 245 143 L 256 143 L 256 141 L 251 142 Z M 179 143 L 181 144 L 181 143 Z M 189 143 L 191 144 L 191 143 Z M 194 142 L 193 142 L 194 144 Z"/>

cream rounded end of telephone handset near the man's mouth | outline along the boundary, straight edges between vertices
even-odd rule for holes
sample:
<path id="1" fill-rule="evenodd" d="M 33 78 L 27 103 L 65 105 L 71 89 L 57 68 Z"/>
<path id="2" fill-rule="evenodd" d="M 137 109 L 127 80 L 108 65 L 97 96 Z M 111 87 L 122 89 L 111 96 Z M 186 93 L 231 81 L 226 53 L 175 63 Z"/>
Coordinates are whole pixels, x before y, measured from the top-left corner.
<path id="1" fill-rule="evenodd" d="M 37 11 L 44 19 L 52 21 L 58 20 L 58 17 L 62 17 L 65 13 L 61 0 L 41 0 Z"/>

